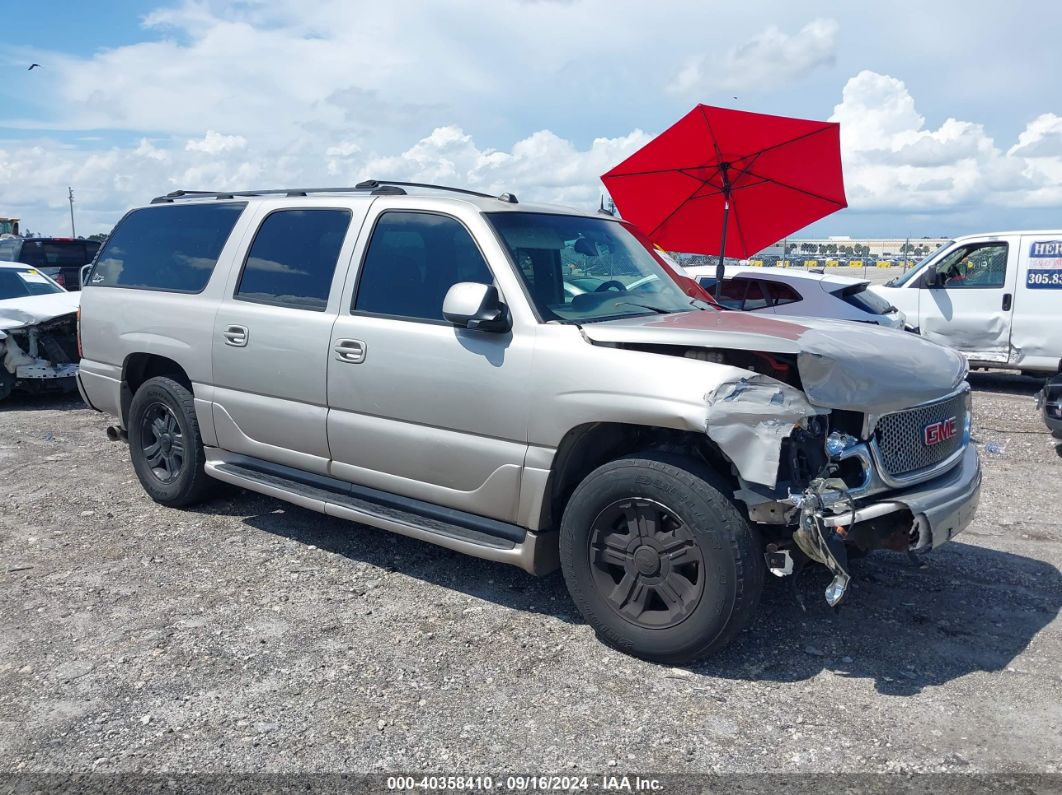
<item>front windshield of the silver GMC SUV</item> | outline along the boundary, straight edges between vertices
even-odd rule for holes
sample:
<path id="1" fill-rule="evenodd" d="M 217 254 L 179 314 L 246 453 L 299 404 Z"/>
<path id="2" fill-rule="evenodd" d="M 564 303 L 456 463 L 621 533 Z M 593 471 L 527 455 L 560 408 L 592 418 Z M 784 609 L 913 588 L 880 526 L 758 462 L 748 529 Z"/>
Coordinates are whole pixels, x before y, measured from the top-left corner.
<path id="1" fill-rule="evenodd" d="M 593 323 L 705 306 L 616 221 L 538 212 L 487 218 L 544 321 Z"/>

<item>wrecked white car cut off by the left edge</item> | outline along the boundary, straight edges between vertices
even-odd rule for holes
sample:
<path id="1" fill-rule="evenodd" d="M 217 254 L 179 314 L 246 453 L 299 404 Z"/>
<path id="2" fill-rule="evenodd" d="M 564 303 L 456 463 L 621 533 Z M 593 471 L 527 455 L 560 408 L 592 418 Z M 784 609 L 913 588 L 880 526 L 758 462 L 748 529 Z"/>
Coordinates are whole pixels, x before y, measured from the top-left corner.
<path id="1" fill-rule="evenodd" d="M 0 400 L 76 388 L 78 304 L 36 269 L 0 262 Z"/>

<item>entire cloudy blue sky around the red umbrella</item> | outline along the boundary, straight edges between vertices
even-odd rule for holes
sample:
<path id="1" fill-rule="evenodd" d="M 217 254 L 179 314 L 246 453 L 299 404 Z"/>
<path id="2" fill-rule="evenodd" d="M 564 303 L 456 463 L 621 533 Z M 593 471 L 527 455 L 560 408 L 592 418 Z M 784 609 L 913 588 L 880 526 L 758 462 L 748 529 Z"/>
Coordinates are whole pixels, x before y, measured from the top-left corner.
<path id="1" fill-rule="evenodd" d="M 1062 225 L 1056 4 L 2 2 L 0 215 L 45 234 L 68 185 L 80 234 L 367 176 L 596 206 L 697 102 L 841 123 L 850 208 L 806 236 Z"/>

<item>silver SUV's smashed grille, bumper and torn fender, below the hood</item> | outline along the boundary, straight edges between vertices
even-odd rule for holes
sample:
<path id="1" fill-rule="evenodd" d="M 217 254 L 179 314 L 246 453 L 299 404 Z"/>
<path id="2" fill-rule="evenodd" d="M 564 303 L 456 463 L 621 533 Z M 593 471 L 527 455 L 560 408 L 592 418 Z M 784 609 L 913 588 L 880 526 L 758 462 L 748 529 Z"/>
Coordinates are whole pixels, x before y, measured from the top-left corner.
<path id="1" fill-rule="evenodd" d="M 851 554 L 926 551 L 973 519 L 981 476 L 965 383 L 869 428 L 867 415 L 818 409 L 760 377 L 724 384 L 707 402 L 707 435 L 734 452 L 735 497 L 768 525 L 769 570 L 786 576 L 822 564 L 834 575 L 830 606 L 847 592 Z"/>

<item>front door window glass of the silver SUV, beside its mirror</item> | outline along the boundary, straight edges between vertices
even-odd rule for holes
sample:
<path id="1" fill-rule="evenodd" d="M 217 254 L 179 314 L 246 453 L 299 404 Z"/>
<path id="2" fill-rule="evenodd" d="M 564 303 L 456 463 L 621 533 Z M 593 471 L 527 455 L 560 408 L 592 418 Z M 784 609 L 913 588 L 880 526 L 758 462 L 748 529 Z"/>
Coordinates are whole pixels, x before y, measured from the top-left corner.
<path id="1" fill-rule="evenodd" d="M 494 282 L 460 221 L 427 212 L 384 212 L 369 241 L 352 309 L 442 321 L 443 298 L 460 281 Z"/>

